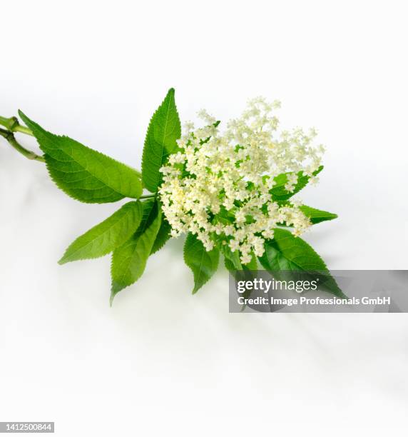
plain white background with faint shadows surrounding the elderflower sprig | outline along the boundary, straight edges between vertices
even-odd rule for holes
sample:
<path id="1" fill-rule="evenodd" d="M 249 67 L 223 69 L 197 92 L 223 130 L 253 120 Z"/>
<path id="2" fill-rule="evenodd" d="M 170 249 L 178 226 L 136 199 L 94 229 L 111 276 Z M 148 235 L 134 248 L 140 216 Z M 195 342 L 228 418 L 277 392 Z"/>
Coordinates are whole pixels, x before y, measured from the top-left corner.
<path id="1" fill-rule="evenodd" d="M 302 199 L 340 216 L 307 241 L 330 268 L 408 268 L 406 2 L 143 3 L 0 1 L 0 114 L 139 167 L 170 86 L 183 120 L 281 99 L 282 124 L 317 126 L 327 146 Z M 223 269 L 190 295 L 181 240 L 109 308 L 108 257 L 56 261 L 117 205 L 73 201 L 0 140 L 0 421 L 407 435 L 407 314 L 230 314 Z"/>

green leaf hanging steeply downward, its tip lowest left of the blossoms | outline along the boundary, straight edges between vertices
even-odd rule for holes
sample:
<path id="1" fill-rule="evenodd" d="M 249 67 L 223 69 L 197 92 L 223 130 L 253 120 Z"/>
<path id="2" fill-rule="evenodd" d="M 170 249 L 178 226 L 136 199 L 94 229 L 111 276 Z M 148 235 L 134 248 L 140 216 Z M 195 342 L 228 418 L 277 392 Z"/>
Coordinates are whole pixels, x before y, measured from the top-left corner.
<path id="1" fill-rule="evenodd" d="M 161 210 L 155 201 L 143 202 L 141 224 L 131 238 L 113 251 L 111 304 L 116 294 L 143 274 L 153 243 L 160 228 Z"/>

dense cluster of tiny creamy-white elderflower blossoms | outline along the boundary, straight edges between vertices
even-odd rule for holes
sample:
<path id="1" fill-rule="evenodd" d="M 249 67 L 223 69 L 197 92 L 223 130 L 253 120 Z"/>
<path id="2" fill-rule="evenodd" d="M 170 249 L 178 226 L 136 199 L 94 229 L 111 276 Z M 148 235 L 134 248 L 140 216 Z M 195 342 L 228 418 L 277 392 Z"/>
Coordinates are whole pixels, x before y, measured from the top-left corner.
<path id="1" fill-rule="evenodd" d="M 228 245 L 246 264 L 252 253 L 262 256 L 265 239 L 282 223 L 297 236 L 310 226 L 297 202 L 278 203 L 270 191 L 282 173 L 290 172 L 289 192 L 299 171 L 314 182 L 324 149 L 312 144 L 314 129 L 279 131 L 279 107 L 277 101 L 253 99 L 223 133 L 205 111 L 198 114 L 204 127 L 186 124 L 178 152 L 160 169 L 160 200 L 173 237 L 191 232 L 207 251 Z"/>

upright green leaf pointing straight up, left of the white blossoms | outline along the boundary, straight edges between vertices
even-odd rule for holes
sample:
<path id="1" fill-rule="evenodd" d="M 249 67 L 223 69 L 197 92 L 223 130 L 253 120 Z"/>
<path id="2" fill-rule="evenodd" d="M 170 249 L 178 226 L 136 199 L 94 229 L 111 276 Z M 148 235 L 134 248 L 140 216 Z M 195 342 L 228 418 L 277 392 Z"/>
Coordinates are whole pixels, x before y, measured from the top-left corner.
<path id="1" fill-rule="evenodd" d="M 174 89 L 172 88 L 151 118 L 143 148 L 143 184 L 152 193 L 157 191 L 161 181 L 159 169 L 168 155 L 177 149 L 175 141 L 180 138 L 180 135 L 180 119 L 175 107 Z"/>

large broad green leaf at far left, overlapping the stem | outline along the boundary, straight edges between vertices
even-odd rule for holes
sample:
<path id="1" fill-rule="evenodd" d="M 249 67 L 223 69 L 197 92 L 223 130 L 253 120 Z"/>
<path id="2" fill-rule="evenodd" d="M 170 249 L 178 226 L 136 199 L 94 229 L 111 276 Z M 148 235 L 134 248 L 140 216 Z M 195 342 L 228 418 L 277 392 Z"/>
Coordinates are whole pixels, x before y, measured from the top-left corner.
<path id="1" fill-rule="evenodd" d="M 21 119 L 31 129 L 44 152 L 51 179 L 68 196 L 88 204 L 115 202 L 142 194 L 141 175 L 68 136 L 45 131 L 21 111 Z"/>

